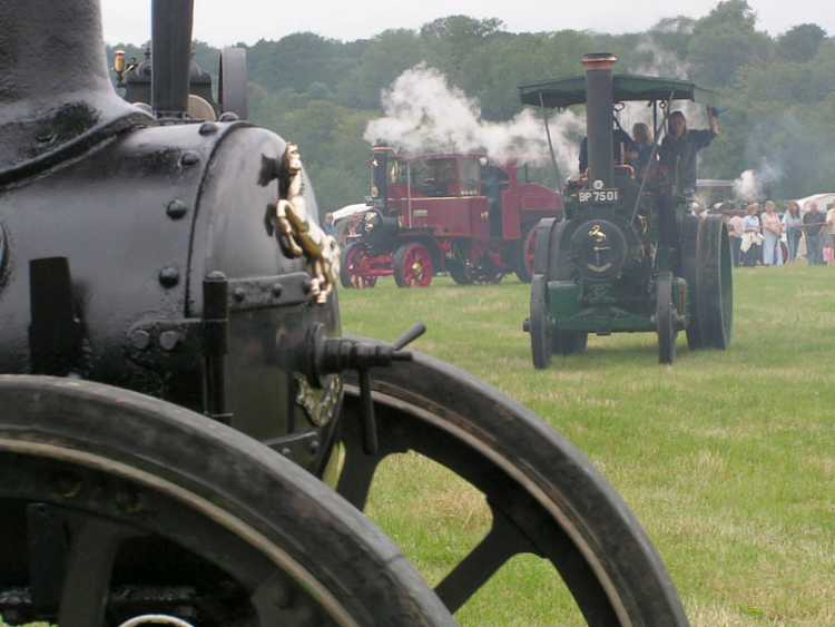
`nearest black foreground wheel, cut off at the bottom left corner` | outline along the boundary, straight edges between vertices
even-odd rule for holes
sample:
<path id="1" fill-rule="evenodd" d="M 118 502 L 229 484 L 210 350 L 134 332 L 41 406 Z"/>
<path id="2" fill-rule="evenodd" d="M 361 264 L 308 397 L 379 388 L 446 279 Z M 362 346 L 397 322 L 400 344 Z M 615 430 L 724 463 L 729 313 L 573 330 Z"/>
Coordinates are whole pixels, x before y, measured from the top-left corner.
<path id="1" fill-rule="evenodd" d="M 258 442 L 125 390 L 0 376 L 12 623 L 451 625 L 397 549 Z"/>

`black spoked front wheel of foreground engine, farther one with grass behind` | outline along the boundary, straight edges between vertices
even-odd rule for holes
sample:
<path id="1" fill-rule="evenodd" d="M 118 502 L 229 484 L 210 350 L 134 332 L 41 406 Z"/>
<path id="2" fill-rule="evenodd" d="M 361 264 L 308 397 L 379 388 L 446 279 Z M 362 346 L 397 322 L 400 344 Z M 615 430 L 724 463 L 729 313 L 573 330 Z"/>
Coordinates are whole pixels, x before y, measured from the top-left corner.
<path id="1" fill-rule="evenodd" d="M 687 625 L 675 586 L 627 506 L 538 417 L 420 354 L 376 373 L 372 386 L 381 449 L 364 453 L 358 391 L 348 385 L 338 491 L 364 508 L 377 464 L 411 450 L 470 482 L 491 510 L 491 530 L 435 588 L 451 611 L 513 556 L 532 552 L 559 572 L 589 625 Z"/>

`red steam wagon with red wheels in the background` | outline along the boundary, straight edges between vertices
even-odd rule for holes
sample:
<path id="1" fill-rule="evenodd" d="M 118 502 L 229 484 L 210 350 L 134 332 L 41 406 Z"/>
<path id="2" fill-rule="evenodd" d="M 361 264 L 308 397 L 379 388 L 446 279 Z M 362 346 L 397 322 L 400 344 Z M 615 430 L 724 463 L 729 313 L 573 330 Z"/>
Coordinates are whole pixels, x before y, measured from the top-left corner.
<path id="1" fill-rule="evenodd" d="M 510 272 L 530 283 L 533 228 L 562 214 L 559 193 L 484 155 L 406 157 L 377 146 L 371 169 L 367 210 L 346 218 L 345 287 L 392 275 L 400 287 L 426 287 L 444 271 L 461 285 L 499 283 Z"/>

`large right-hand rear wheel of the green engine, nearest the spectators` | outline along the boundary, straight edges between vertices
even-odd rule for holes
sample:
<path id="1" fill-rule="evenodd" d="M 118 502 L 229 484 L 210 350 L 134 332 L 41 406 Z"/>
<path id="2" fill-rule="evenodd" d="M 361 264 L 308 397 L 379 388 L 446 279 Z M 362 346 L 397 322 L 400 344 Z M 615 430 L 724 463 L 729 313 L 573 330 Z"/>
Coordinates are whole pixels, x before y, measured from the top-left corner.
<path id="1" fill-rule="evenodd" d="M 734 326 L 734 284 L 728 228 L 721 216 L 700 221 L 696 252 L 696 306 L 705 347 L 725 350 Z"/>

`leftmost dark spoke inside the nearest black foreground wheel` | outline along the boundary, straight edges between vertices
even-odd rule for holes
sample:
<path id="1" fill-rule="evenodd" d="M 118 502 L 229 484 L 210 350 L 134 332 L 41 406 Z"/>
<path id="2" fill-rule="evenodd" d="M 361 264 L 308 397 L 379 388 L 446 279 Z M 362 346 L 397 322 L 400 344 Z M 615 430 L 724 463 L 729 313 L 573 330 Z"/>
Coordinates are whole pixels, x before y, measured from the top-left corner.
<path id="1" fill-rule="evenodd" d="M 61 627 L 104 625 L 110 575 L 119 546 L 134 533 L 100 518 L 80 521 L 67 558 L 58 624 Z"/>

